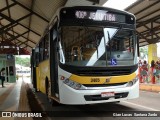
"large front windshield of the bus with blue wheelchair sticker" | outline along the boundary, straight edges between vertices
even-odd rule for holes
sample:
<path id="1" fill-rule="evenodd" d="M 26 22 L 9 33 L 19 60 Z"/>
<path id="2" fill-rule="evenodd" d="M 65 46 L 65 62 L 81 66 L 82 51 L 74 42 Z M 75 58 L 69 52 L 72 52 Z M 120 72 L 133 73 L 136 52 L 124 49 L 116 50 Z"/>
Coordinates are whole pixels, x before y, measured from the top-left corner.
<path id="1" fill-rule="evenodd" d="M 62 26 L 60 62 L 73 66 L 132 66 L 136 64 L 135 32 L 129 29 Z"/>

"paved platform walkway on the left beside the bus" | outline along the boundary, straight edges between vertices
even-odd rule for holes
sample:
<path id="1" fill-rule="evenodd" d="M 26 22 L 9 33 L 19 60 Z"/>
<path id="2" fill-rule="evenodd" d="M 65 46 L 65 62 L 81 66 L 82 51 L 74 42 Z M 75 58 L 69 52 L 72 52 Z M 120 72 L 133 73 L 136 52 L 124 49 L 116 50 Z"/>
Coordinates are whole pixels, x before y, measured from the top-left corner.
<path id="1" fill-rule="evenodd" d="M 32 117 L 21 118 L 14 114 L 16 111 L 30 112 L 25 85 L 23 80 L 19 79 L 16 83 L 5 83 L 4 88 L 0 87 L 0 120 L 32 120 Z"/>

